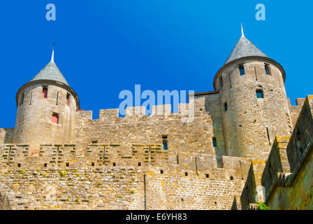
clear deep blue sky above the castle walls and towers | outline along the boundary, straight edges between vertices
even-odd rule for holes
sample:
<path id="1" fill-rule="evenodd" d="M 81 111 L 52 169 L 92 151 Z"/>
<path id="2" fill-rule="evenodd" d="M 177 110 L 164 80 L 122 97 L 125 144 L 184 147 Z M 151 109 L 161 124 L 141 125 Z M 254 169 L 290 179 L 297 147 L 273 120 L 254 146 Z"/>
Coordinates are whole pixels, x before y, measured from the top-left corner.
<path id="1" fill-rule="evenodd" d="M 31 2 L 31 3 L 30 3 Z M 245 36 L 286 71 L 295 104 L 312 91 L 312 1 L 1 1 L 1 120 L 14 127 L 15 94 L 55 62 L 82 109 L 118 108 L 122 90 L 213 90 L 215 73 Z M 45 6 L 54 3 L 57 20 Z M 255 6 L 266 6 L 266 20 Z"/>

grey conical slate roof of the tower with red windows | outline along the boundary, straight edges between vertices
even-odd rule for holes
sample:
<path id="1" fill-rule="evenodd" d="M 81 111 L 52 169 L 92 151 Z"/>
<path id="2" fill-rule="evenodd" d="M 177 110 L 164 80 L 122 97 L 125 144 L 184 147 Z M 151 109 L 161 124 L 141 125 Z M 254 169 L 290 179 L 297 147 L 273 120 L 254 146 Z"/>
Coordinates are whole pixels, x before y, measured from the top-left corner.
<path id="1" fill-rule="evenodd" d="M 51 62 L 49 62 L 49 64 L 47 64 L 43 69 L 41 69 L 41 71 L 31 81 L 34 80 L 55 80 L 59 83 L 68 85 L 66 79 L 53 60 L 51 60 Z"/>

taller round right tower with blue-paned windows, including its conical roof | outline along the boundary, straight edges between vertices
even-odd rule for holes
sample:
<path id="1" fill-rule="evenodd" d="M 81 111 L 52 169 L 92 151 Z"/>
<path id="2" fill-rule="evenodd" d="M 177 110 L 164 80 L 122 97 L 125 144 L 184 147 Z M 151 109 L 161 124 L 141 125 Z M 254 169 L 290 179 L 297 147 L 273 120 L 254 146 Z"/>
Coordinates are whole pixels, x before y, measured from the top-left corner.
<path id="1" fill-rule="evenodd" d="M 244 35 L 214 77 L 219 91 L 227 154 L 268 158 L 277 134 L 293 129 L 282 66 Z"/>

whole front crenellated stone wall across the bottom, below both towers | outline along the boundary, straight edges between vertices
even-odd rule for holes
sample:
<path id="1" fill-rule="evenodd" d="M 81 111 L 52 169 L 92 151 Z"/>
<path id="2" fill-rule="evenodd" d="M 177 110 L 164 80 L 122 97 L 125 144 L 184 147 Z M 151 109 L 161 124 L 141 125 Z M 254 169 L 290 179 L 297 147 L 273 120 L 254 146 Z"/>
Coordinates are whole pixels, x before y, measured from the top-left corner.
<path id="1" fill-rule="evenodd" d="M 41 145 L 38 152 L 2 144 L 0 152 L 0 192 L 12 209 L 231 209 L 251 162 L 223 156 L 217 168 L 208 154 L 149 144 Z"/>

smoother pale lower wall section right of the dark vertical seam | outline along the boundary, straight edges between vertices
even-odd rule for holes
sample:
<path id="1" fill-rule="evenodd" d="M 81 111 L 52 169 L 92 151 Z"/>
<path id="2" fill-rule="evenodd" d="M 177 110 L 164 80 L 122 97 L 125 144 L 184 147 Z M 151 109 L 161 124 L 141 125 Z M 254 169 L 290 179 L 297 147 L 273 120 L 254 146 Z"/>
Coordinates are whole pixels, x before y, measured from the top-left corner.
<path id="1" fill-rule="evenodd" d="M 147 172 L 147 209 L 229 210 L 244 183 L 235 170 L 179 171 Z"/>

